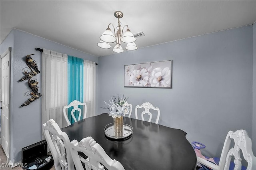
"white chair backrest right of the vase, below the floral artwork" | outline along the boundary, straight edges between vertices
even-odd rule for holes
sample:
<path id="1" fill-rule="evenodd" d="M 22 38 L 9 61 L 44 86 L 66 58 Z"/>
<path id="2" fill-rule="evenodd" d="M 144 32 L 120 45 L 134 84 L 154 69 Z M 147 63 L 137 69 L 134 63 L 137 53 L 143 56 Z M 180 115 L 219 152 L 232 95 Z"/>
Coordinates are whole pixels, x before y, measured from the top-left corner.
<path id="1" fill-rule="evenodd" d="M 143 103 L 142 105 L 137 105 L 135 107 L 135 117 L 136 119 L 138 119 L 138 109 L 139 108 L 144 108 L 145 110 L 141 113 L 141 117 L 142 117 L 142 121 L 144 121 L 144 115 L 145 113 L 148 113 L 149 115 L 149 119 L 148 119 L 148 122 L 151 122 L 151 119 L 152 119 L 152 113 L 149 111 L 149 109 L 153 109 L 155 111 L 157 111 L 157 117 L 156 117 L 156 122 L 155 123 L 158 123 L 159 121 L 159 117 L 160 117 L 160 110 L 158 107 L 154 107 L 151 103 L 149 102 L 146 102 L 146 103 Z"/>

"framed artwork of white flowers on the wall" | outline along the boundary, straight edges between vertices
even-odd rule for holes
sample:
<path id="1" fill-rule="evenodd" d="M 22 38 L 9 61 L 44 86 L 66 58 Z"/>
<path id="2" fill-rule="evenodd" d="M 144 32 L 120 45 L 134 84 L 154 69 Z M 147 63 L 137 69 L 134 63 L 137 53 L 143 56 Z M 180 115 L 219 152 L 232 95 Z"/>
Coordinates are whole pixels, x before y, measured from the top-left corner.
<path id="1" fill-rule="evenodd" d="M 124 65 L 124 87 L 172 88 L 172 60 Z"/>

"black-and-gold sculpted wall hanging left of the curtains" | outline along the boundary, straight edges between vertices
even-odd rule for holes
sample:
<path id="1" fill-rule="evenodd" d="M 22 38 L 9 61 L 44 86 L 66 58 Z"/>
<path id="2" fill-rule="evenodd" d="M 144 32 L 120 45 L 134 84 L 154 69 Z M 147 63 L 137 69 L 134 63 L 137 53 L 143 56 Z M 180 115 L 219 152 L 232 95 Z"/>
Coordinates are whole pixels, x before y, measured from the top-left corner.
<path id="1" fill-rule="evenodd" d="M 22 77 L 22 79 L 20 79 L 20 81 L 28 80 L 28 87 L 30 87 L 32 91 L 26 92 L 25 95 L 26 96 L 30 95 L 31 97 L 21 105 L 22 107 L 29 105 L 30 103 L 32 103 L 36 99 L 39 99 L 39 97 L 42 96 L 41 93 L 38 93 L 37 79 L 32 79 L 32 77 L 40 73 L 40 71 L 38 70 L 36 61 L 31 58 L 31 55 L 34 55 L 34 54 L 26 55 L 26 64 L 28 65 L 28 67 L 25 67 L 23 69 L 25 75 Z M 30 72 L 29 72 L 29 69 L 30 69 Z"/>

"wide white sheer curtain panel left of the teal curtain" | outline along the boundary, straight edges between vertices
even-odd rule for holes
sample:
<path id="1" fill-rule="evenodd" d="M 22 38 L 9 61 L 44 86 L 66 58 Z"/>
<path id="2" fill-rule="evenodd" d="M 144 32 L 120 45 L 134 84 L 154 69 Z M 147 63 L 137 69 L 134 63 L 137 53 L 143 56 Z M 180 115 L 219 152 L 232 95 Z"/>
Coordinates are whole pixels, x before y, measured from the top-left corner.
<path id="1" fill-rule="evenodd" d="M 49 119 L 65 127 L 63 107 L 68 103 L 68 55 L 43 49 L 42 123 Z"/>

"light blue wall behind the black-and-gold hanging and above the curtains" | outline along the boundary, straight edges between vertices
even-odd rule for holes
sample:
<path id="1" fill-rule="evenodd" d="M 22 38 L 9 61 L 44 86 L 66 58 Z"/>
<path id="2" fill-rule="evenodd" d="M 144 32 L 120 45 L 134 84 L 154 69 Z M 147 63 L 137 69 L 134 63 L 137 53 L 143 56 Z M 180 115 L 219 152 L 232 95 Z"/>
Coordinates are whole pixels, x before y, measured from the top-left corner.
<path id="1" fill-rule="evenodd" d="M 26 32 L 19 30 L 13 30 L 12 32 L 14 33 L 13 74 L 11 74 L 13 79 L 13 95 L 11 95 L 12 103 L 10 103 L 10 105 L 12 109 L 10 114 L 12 116 L 11 127 L 13 128 L 13 131 L 11 132 L 11 152 L 13 152 L 14 157 L 11 160 L 12 162 L 19 162 L 21 160 L 21 149 L 40 141 L 42 138 L 42 98 L 34 101 L 28 106 L 20 107 L 20 105 L 29 98 L 28 96 L 25 96 L 24 93 L 30 90 L 27 81 L 19 82 L 19 79 L 23 77 L 22 69 L 27 67 L 24 57 L 34 53 L 35 55 L 32 55 L 32 58 L 38 64 L 39 70 L 41 70 L 42 55 L 39 51 L 35 50 L 36 47 L 51 49 L 60 53 L 95 61 L 96 63 L 98 63 L 98 58 Z M 96 74 L 97 73 L 98 71 L 96 67 Z M 39 92 L 41 92 L 42 87 L 41 76 L 42 74 L 40 73 L 35 76 L 39 81 Z"/>

